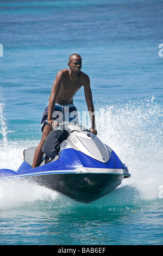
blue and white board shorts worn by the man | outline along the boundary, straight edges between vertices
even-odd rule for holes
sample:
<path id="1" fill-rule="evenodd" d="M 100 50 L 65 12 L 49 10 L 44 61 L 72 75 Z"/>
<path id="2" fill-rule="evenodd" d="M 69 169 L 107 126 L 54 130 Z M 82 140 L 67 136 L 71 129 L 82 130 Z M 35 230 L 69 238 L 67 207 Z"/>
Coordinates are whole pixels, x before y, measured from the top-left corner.
<path id="1" fill-rule="evenodd" d="M 65 122 L 72 122 L 74 124 L 79 124 L 78 112 L 74 104 L 60 105 L 58 103 L 55 103 L 52 119 L 53 121 L 55 120 L 59 123 L 62 123 L 62 121 L 65 121 Z M 42 120 L 41 120 L 42 132 L 47 123 L 48 123 L 48 106 L 45 108 L 42 115 Z"/>

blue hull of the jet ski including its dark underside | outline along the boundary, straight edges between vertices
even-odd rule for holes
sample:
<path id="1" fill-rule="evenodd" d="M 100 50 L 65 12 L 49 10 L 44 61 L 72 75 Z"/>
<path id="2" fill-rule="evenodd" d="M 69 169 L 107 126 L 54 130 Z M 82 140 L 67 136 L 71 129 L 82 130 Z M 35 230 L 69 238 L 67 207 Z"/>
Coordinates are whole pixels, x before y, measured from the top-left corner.
<path id="1" fill-rule="evenodd" d="M 111 152 L 110 160 L 102 163 L 74 149 L 62 150 L 57 161 L 34 169 L 24 161 L 17 172 L 0 170 L 0 179 L 32 179 L 84 203 L 90 203 L 115 190 L 123 178 L 129 176 L 128 168 L 114 151 Z"/>

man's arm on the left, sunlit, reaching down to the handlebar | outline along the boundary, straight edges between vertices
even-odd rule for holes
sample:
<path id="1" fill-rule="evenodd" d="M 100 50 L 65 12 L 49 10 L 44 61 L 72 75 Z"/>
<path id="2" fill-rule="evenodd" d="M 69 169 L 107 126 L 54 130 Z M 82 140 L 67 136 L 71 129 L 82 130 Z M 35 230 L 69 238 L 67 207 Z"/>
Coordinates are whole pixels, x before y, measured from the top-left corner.
<path id="1" fill-rule="evenodd" d="M 53 83 L 53 87 L 52 87 L 52 92 L 51 95 L 49 97 L 49 105 L 48 105 L 48 123 L 52 126 L 53 120 L 52 120 L 52 115 L 53 115 L 53 111 L 54 111 L 54 106 L 55 106 L 55 100 L 59 94 L 60 91 L 60 87 L 61 87 L 61 83 L 64 77 L 64 72 L 62 70 L 60 70 L 57 73 L 57 76 L 55 78 L 55 81 Z"/>

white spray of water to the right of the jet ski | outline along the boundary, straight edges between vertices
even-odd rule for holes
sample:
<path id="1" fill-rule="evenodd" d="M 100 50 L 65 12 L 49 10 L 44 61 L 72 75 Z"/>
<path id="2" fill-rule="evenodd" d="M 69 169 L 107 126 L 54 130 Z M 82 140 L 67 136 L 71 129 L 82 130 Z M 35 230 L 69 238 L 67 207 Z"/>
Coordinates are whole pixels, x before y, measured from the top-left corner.
<path id="1" fill-rule="evenodd" d="M 132 191 L 134 198 L 136 192 L 139 195 L 136 200 L 159 198 L 159 187 L 163 184 L 161 107 L 152 97 L 105 106 L 100 111 L 101 116 L 108 116 L 108 119 L 99 136 L 126 163 L 131 174 L 118 190 L 124 191 L 125 186 L 130 199 Z"/>

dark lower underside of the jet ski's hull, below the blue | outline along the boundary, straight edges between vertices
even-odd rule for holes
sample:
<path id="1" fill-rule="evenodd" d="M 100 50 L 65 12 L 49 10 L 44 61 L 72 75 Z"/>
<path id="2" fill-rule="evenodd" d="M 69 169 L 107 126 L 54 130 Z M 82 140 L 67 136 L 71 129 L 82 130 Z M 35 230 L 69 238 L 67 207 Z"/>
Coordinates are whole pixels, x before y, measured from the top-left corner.
<path id="1" fill-rule="evenodd" d="M 117 188 L 124 176 L 114 174 L 46 174 L 33 177 L 40 184 L 83 203 L 91 203 Z"/>

